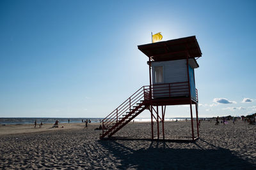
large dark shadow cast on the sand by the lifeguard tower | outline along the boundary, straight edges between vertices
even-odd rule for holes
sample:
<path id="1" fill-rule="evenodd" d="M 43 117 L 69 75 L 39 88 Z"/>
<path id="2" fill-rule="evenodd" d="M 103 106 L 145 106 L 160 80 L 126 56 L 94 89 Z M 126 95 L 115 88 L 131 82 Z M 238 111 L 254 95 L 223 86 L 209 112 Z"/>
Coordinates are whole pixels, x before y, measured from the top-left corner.
<path id="1" fill-rule="evenodd" d="M 131 142 L 135 146 L 138 141 L 126 141 L 121 144 L 118 141 L 99 141 L 116 159 L 120 160 L 122 166 L 118 169 L 255 169 L 255 166 L 247 160 L 241 159 L 224 148 L 218 148 L 203 139 L 196 149 L 172 148 L 172 143 L 152 141 L 143 142 L 143 148 L 136 146 L 130 148 Z M 211 145 L 212 149 L 204 149 L 205 145 Z M 115 164 L 115 162 L 113 162 Z"/>

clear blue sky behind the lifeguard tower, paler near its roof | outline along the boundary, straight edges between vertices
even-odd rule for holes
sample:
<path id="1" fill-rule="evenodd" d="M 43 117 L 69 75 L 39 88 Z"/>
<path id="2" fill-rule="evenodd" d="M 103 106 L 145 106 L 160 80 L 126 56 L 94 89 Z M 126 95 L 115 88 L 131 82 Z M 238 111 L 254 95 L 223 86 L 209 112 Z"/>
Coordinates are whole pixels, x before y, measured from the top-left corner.
<path id="1" fill-rule="evenodd" d="M 0 1 L 0 117 L 105 117 L 143 85 L 137 45 L 196 36 L 199 116 L 256 112 L 255 1 Z M 140 115 L 149 117 L 147 111 Z M 171 106 L 166 117 L 189 117 Z"/>

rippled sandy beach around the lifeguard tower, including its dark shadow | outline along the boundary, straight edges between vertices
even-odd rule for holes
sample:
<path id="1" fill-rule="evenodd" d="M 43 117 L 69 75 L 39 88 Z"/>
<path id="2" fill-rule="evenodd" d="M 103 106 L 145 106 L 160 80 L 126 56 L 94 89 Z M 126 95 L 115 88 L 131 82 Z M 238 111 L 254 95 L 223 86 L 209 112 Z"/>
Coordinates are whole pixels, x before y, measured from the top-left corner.
<path id="1" fill-rule="evenodd" d="M 202 122 L 195 143 L 99 140 L 99 124 L 0 125 L 0 169 L 255 169 L 256 126 Z M 156 123 L 155 123 L 156 125 Z M 166 138 L 190 133 L 190 122 L 165 122 Z M 156 128 L 154 128 L 156 137 Z M 150 138 L 150 123 L 115 136 Z"/>

